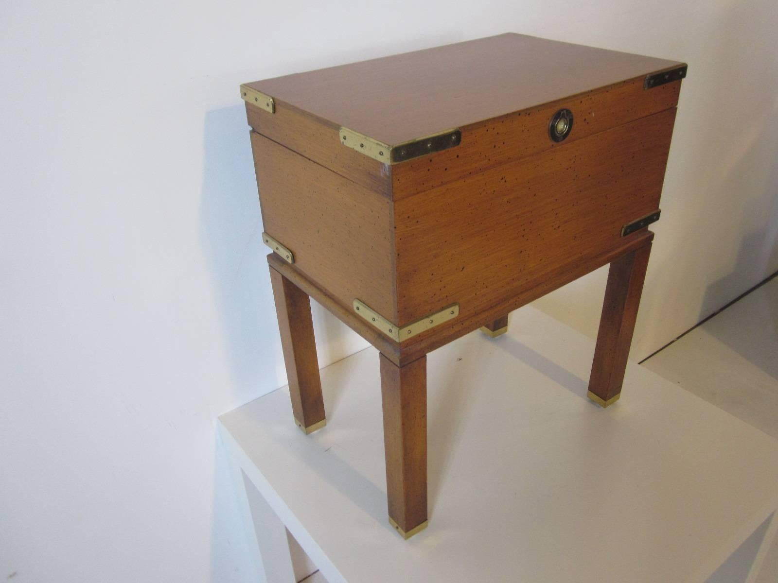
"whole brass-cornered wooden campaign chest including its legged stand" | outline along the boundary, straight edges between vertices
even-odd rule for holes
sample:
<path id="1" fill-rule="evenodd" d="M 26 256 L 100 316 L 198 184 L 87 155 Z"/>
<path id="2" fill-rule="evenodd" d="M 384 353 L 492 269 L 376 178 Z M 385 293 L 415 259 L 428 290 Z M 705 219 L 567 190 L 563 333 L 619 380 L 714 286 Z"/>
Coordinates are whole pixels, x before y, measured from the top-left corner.
<path id="1" fill-rule="evenodd" d="M 503 34 L 241 86 L 293 414 L 324 425 L 308 296 L 380 353 L 392 524 L 426 525 L 426 354 L 611 264 L 618 399 L 686 65 Z"/>

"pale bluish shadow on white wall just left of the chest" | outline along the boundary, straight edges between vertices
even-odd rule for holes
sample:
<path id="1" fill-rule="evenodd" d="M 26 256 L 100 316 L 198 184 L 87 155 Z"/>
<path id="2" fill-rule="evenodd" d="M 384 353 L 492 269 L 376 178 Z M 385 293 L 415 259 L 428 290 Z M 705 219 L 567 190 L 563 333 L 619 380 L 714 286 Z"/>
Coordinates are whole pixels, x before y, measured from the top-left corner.
<path id="1" fill-rule="evenodd" d="M 227 353 L 233 393 L 251 398 L 281 383 L 272 348 L 278 330 L 242 103 L 205 113 L 204 134 L 200 241 L 223 329 L 223 342 L 215 345 Z"/>

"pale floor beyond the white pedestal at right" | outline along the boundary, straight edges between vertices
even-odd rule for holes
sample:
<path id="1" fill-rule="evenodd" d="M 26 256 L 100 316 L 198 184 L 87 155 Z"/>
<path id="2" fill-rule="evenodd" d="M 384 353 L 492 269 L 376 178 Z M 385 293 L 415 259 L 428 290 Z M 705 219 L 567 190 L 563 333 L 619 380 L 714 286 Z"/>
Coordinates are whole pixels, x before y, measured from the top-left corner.
<path id="1" fill-rule="evenodd" d="M 778 278 L 713 316 L 643 366 L 778 438 Z M 776 581 L 778 540 L 757 583 Z"/>

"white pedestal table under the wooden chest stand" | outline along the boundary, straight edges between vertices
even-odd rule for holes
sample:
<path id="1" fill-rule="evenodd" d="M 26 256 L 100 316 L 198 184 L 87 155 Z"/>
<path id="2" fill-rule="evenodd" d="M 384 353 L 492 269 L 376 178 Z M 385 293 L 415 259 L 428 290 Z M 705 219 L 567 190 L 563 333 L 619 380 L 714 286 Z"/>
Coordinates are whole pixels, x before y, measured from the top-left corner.
<path id="1" fill-rule="evenodd" d="M 387 522 L 373 348 L 322 370 L 312 435 L 286 389 L 223 415 L 268 581 L 294 581 L 286 529 L 329 583 L 752 579 L 778 528 L 778 442 L 634 364 L 603 410 L 593 351 L 526 307 L 502 337 L 429 354 L 429 527 L 408 541 Z"/>

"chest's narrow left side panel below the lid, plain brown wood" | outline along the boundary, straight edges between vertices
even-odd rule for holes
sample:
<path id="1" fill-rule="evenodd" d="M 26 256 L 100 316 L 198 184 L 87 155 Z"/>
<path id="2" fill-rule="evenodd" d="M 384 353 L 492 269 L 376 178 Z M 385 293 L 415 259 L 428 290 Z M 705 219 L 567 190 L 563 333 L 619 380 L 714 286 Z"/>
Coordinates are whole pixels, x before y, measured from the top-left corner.
<path id="1" fill-rule="evenodd" d="M 394 317 L 391 201 L 251 132 L 265 232 L 293 267 L 351 309 L 354 298 Z"/>

